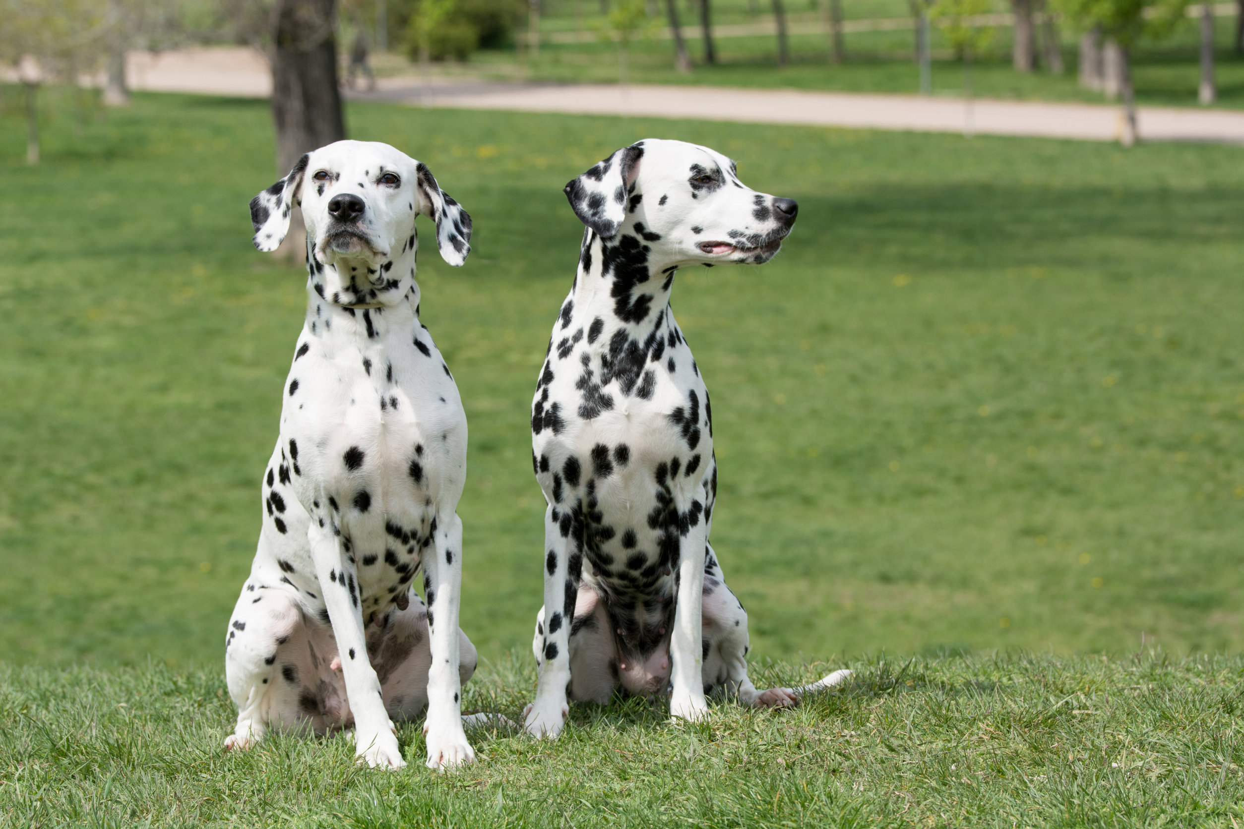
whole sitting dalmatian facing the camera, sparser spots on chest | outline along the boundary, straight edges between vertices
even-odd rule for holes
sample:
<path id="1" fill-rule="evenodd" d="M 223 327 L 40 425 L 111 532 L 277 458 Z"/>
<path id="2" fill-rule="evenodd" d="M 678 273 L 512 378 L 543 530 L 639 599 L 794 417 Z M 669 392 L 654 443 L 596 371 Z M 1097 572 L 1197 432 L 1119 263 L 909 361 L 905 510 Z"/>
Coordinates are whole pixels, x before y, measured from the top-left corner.
<path id="1" fill-rule="evenodd" d="M 419 323 L 415 216 L 450 265 L 470 216 L 387 144 L 304 155 L 250 204 L 271 251 L 301 205 L 307 311 L 261 487 L 259 549 L 229 621 L 238 705 L 226 748 L 269 728 L 355 728 L 360 762 L 404 766 L 393 721 L 427 707 L 428 767 L 474 759 L 459 695 L 475 649 L 458 629 L 466 418 Z M 412 587 L 423 570 L 427 605 Z"/>

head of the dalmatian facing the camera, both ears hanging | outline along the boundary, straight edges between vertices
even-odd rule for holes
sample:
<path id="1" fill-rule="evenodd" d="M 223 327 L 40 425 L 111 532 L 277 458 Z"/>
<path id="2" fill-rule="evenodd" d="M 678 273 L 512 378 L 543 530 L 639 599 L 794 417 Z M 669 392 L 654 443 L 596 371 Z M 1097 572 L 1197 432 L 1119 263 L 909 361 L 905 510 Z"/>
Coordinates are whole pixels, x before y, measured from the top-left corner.
<path id="1" fill-rule="evenodd" d="M 388 144 L 340 140 L 300 158 L 289 175 L 251 199 L 255 247 L 276 250 L 289 232 L 291 205 L 302 208 L 309 252 L 320 265 L 350 260 L 381 272 L 386 262 L 414 252 L 418 214 L 437 224 L 437 247 L 447 262 L 462 265 L 470 252 L 466 211 L 427 167 Z"/>

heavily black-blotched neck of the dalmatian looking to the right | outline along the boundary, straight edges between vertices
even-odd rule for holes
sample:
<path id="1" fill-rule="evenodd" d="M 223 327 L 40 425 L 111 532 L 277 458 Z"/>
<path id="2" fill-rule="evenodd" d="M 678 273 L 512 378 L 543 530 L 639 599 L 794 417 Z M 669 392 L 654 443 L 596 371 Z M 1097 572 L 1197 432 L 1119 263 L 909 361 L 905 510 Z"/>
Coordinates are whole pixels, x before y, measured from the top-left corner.
<path id="1" fill-rule="evenodd" d="M 618 232 L 601 239 L 586 231 L 570 293 L 573 306 L 569 316 L 562 308 L 559 331 L 565 328 L 573 336 L 565 323 L 578 321 L 588 327 L 585 334 L 592 349 L 608 349 L 612 333 L 620 328 L 646 341 L 666 319 L 677 270 L 637 235 Z M 603 321 L 603 329 L 596 331 L 596 319 Z"/>

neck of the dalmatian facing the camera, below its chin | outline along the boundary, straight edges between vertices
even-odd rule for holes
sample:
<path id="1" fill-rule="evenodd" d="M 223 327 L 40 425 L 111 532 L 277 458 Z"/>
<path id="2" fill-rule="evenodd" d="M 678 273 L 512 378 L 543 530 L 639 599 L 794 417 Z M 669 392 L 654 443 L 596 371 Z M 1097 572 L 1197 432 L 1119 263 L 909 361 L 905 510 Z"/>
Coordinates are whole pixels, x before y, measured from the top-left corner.
<path id="1" fill-rule="evenodd" d="M 412 236 L 413 239 L 413 236 Z M 321 263 L 315 257 L 315 242 L 307 237 L 309 312 L 316 301 L 338 308 L 384 308 L 407 300 L 414 292 L 419 305 L 419 286 L 414 281 L 415 246 L 403 244 L 402 252 L 379 262 L 363 257 L 337 257 Z M 322 313 L 322 311 L 321 311 Z"/>

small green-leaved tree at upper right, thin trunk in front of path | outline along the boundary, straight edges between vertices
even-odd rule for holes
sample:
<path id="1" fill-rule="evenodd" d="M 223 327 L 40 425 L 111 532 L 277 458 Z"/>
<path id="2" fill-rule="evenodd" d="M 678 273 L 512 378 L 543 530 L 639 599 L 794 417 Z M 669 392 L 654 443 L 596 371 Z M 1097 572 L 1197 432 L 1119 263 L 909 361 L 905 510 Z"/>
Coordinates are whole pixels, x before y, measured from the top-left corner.
<path id="1" fill-rule="evenodd" d="M 1171 32 L 1184 16 L 1188 0 L 1054 0 L 1054 7 L 1071 24 L 1101 32 L 1103 76 L 1107 94 L 1112 73 L 1117 71 L 1123 97 L 1123 123 L 1120 140 L 1136 143 L 1136 96 L 1132 89 L 1131 51 L 1142 39 L 1157 39 Z"/>

